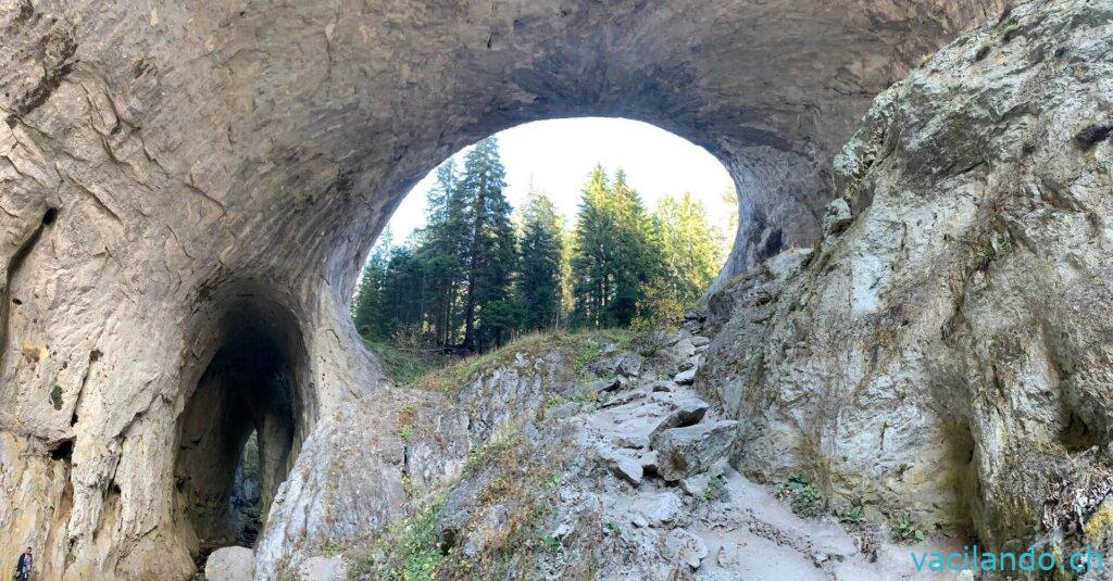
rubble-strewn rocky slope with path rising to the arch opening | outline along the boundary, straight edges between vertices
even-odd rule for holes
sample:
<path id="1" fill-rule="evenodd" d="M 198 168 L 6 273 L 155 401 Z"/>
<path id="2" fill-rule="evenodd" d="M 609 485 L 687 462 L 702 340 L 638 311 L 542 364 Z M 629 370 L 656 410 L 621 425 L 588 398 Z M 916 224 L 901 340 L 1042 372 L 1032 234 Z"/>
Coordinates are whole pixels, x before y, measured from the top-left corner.
<path id="1" fill-rule="evenodd" d="M 469 422 L 486 440 L 446 485 L 417 490 L 411 475 L 408 515 L 370 553 L 335 546 L 303 562 L 301 577 L 904 579 L 908 551 L 954 544 L 890 541 L 899 533 L 884 525 L 825 514 L 806 481 L 759 484 L 731 469 L 738 422 L 691 387 L 709 344 L 701 327 L 690 318 L 648 357 L 604 342 L 577 377 L 540 390 L 520 370 L 562 361 L 552 353 L 519 353 L 480 374 L 462 407 L 482 397 L 523 408 Z M 522 385 L 534 395 L 522 397 Z M 216 569 L 230 567 L 213 559 L 209 578 L 224 579 Z"/>

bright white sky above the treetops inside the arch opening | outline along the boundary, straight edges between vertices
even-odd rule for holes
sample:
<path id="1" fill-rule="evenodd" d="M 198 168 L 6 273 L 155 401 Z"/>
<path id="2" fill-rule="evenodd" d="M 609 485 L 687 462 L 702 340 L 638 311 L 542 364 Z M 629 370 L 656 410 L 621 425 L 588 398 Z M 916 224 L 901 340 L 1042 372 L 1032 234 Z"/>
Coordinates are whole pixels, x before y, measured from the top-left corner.
<path id="1" fill-rule="evenodd" d="M 725 230 L 733 209 L 733 204 L 720 199 L 732 186 L 726 168 L 706 149 L 649 124 L 602 117 L 551 119 L 520 125 L 498 137 L 511 206 L 521 206 L 532 186 L 552 198 L 568 227 L 575 218 L 580 188 L 595 164 L 611 176 L 617 168 L 624 169 L 650 211 L 658 199 L 690 191 L 703 203 L 712 224 Z M 463 169 L 463 151 L 453 157 Z M 394 244 L 425 225 L 425 197 L 434 181 L 431 171 L 391 217 Z M 725 236 L 733 239 L 733 233 Z"/>

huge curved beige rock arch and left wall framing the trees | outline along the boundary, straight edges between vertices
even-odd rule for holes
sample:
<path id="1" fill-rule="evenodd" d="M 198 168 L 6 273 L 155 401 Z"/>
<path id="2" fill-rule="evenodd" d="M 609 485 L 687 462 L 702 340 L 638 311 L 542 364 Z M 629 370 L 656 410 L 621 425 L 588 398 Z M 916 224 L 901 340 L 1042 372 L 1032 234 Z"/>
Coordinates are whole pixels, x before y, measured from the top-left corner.
<path id="1" fill-rule="evenodd" d="M 407 187 L 461 146 L 569 115 L 672 130 L 735 176 L 739 272 L 815 239 L 869 99 L 1004 3 L 0 2 L 0 568 L 30 544 L 49 578 L 181 578 L 223 510 L 197 499 L 233 480 L 195 485 L 233 464 L 205 451 L 249 424 L 276 483 L 312 472 L 314 433 L 396 439 L 348 296 Z M 1005 78 L 998 52 L 978 66 Z M 908 159 L 969 161 L 942 145 Z M 232 424 L 195 433 L 195 412 Z M 361 431 L 326 425 L 344 416 Z M 283 526 L 329 524 L 264 535 Z"/>

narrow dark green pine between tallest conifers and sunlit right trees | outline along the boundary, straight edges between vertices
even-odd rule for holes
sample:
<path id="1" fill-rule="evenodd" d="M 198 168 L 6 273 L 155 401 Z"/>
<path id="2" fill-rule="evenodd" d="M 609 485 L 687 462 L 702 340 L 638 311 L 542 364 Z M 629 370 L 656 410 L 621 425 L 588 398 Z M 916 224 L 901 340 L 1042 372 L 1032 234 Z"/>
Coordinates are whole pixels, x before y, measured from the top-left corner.
<path id="1" fill-rule="evenodd" d="M 515 284 L 520 325 L 528 331 L 560 324 L 563 234 L 556 206 L 540 193 L 522 207 L 519 274 Z"/>

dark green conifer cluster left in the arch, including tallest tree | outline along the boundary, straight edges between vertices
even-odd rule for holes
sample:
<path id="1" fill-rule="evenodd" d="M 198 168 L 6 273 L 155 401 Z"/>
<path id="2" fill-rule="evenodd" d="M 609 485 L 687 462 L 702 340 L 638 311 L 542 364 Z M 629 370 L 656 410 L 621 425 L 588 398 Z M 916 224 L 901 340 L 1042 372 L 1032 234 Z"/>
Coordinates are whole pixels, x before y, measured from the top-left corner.
<path id="1" fill-rule="evenodd" d="M 493 137 L 467 151 L 462 174 L 452 160 L 437 169 L 427 226 L 403 246 L 381 242 L 364 268 L 353 317 L 365 337 L 401 331 L 422 345 L 470 352 L 505 342 L 516 321 L 516 249 L 504 175 Z"/>

